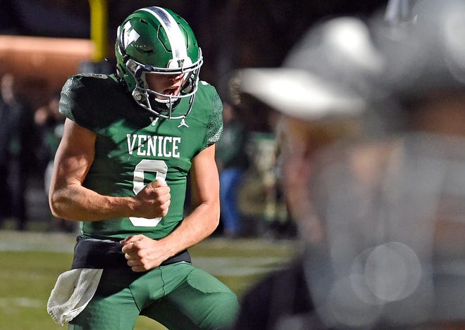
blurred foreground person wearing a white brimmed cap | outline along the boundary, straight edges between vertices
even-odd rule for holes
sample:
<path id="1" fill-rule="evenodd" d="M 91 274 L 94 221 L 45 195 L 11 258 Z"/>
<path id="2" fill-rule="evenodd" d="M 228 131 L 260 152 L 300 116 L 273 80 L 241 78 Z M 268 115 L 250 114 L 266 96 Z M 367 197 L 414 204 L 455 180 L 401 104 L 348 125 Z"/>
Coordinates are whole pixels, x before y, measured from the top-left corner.
<path id="1" fill-rule="evenodd" d="M 309 195 L 318 155 L 338 141 L 357 139 L 361 134 L 361 115 L 367 102 L 362 89 L 345 80 L 361 75 L 371 79 L 382 68 L 380 56 L 369 41 L 368 29 L 361 20 L 338 18 L 309 30 L 290 51 L 282 68 L 244 69 L 237 73 L 240 94 L 254 96 L 278 111 L 271 113 L 271 122 L 275 123 L 280 152 L 280 185 L 304 246 L 324 236 Z M 339 71 L 323 76 L 307 67 L 311 63 Z M 349 63 L 353 65 L 350 70 L 358 75 L 345 68 Z M 340 79 L 333 80 L 333 75 Z M 299 256 L 246 293 L 235 329 L 307 329 L 288 322 L 315 310 L 306 286 L 304 261 L 305 255 Z M 304 321 L 302 324 L 311 325 Z"/>

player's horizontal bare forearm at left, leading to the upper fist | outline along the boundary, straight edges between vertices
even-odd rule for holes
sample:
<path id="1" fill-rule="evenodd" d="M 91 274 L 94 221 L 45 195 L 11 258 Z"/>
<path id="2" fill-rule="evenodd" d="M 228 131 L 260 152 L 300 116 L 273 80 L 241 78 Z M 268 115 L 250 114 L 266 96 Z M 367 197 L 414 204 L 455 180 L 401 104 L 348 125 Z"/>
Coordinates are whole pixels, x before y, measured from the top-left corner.
<path id="1" fill-rule="evenodd" d="M 70 185 L 53 191 L 49 204 L 55 217 L 98 221 L 134 215 L 136 201 L 130 197 L 102 196 L 83 186 Z"/>

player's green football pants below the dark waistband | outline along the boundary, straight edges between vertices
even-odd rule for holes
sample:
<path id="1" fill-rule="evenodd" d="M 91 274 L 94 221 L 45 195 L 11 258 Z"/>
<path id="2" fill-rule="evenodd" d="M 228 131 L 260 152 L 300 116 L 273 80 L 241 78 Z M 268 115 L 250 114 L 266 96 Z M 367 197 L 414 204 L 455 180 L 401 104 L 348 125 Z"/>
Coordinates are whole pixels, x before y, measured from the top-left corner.
<path id="1" fill-rule="evenodd" d="M 135 273 L 105 269 L 99 287 L 70 330 L 132 330 L 138 315 L 170 330 L 227 329 L 239 304 L 216 277 L 187 262 Z"/>

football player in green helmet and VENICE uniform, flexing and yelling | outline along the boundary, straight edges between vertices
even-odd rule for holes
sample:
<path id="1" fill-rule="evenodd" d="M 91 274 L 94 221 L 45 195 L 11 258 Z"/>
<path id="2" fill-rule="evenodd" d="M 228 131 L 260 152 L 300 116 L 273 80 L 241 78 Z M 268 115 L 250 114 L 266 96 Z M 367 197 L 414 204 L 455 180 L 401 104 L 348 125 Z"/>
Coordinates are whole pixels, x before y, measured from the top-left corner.
<path id="1" fill-rule="evenodd" d="M 199 81 L 202 51 L 171 10 L 130 14 L 115 48 L 116 74 L 75 75 L 61 91 L 50 207 L 80 221 L 72 268 L 103 269 L 69 329 L 133 329 L 139 315 L 169 329 L 223 329 L 237 297 L 187 252 L 218 225 L 221 99 Z"/>

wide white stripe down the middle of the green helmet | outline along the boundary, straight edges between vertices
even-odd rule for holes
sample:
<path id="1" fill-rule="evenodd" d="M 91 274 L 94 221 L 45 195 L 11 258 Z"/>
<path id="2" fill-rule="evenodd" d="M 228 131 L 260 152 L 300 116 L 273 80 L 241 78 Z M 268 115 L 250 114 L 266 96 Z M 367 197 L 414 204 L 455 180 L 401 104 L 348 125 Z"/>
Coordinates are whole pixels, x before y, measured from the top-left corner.
<path id="1" fill-rule="evenodd" d="M 148 7 L 142 8 L 142 11 L 147 11 L 154 15 L 156 20 L 158 20 L 163 26 L 168 35 L 168 40 L 171 44 L 171 51 L 173 53 L 173 60 L 182 59 L 185 60 L 187 58 L 187 49 L 185 45 L 184 35 L 179 28 L 178 23 L 176 23 L 173 16 L 168 13 L 168 11 L 164 10 L 160 7 Z"/>

